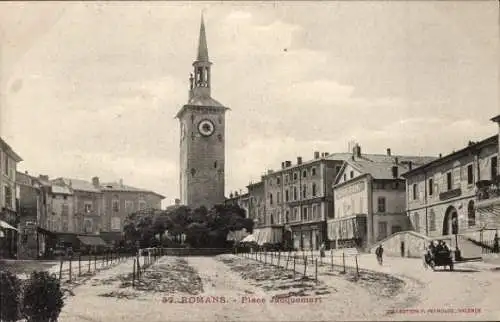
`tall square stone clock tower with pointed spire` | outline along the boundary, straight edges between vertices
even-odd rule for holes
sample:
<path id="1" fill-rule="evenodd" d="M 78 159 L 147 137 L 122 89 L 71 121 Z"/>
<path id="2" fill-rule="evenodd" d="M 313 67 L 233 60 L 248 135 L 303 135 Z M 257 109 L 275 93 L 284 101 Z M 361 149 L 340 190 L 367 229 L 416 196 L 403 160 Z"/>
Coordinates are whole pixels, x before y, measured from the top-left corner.
<path id="1" fill-rule="evenodd" d="M 180 197 L 191 208 L 224 203 L 225 113 L 211 97 L 211 66 L 201 18 L 198 55 L 189 78 L 189 99 L 180 123 Z"/>

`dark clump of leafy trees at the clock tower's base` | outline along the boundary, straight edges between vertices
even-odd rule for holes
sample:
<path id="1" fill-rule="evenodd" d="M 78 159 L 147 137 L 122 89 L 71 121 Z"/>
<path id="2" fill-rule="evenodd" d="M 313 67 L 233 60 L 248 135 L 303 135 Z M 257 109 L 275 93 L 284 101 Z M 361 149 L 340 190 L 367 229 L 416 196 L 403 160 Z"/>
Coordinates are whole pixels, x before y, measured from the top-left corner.
<path id="1" fill-rule="evenodd" d="M 205 248 L 228 246 L 227 234 L 243 228 L 252 233 L 253 221 L 245 218 L 245 210 L 237 205 L 216 205 L 211 209 L 179 206 L 133 213 L 127 219 L 124 233 L 126 240 L 139 242 L 141 247 L 178 245 L 184 236 L 191 247 Z"/>

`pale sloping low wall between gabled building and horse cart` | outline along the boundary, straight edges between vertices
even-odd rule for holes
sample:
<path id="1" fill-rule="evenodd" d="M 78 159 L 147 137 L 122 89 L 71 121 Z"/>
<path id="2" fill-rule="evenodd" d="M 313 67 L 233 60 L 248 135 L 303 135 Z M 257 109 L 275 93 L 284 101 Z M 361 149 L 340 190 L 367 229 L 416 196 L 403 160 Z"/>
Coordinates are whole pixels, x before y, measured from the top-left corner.
<path id="1" fill-rule="evenodd" d="M 420 258 L 430 238 L 414 231 L 395 233 L 370 248 L 370 253 L 375 253 L 378 245 L 382 244 L 385 256 Z"/>

